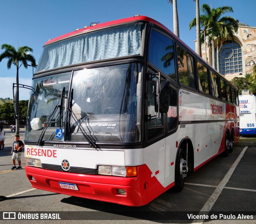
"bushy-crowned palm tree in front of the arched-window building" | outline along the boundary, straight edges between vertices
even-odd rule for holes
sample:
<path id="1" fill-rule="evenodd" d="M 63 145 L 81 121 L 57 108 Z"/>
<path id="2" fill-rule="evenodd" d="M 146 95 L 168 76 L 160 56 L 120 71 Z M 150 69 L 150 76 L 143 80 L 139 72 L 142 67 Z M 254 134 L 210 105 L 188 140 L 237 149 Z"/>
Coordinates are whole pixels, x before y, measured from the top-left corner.
<path id="1" fill-rule="evenodd" d="M 236 20 L 230 16 L 222 17 L 226 12 L 233 12 L 232 7 L 230 6 L 222 6 L 218 8 L 211 8 L 208 4 L 203 4 L 201 7 L 203 12 L 200 15 L 200 26 L 212 28 L 211 31 L 206 32 L 206 36 L 209 36 L 210 46 L 212 46 L 212 67 L 215 68 L 215 47 L 214 47 L 214 38 L 217 37 L 217 46 L 220 46 L 220 39 L 228 38 L 230 36 L 232 39 L 234 38 L 234 32 L 238 30 L 238 24 Z M 196 26 L 196 18 L 194 18 L 189 25 L 189 28 Z M 204 42 L 201 37 L 201 41 Z M 217 48 L 218 49 L 218 48 Z"/>

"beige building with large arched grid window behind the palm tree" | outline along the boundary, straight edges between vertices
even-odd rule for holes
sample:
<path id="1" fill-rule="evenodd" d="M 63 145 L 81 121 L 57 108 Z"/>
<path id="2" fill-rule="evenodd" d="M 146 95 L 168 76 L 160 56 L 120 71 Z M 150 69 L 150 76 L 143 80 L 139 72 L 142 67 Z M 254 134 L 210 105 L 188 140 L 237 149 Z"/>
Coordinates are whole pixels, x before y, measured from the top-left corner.
<path id="1" fill-rule="evenodd" d="M 240 23 L 238 20 L 238 32 L 234 34 L 234 42 L 231 38 L 222 42 L 219 50 L 220 73 L 231 80 L 234 77 L 242 77 L 246 73 L 252 73 L 256 64 L 256 27 Z M 215 39 L 215 67 L 217 70 L 217 42 Z M 206 49 L 206 51 L 205 51 Z M 202 44 L 202 58 L 212 65 L 212 48 L 208 48 L 206 40 Z"/>

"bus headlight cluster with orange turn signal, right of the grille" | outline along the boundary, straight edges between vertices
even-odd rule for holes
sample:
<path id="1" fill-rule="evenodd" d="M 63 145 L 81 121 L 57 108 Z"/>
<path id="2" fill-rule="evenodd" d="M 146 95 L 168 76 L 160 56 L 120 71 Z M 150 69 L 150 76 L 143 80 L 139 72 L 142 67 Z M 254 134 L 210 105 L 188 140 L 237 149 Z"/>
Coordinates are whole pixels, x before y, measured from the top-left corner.
<path id="1" fill-rule="evenodd" d="M 98 166 L 98 174 L 109 176 L 137 176 L 136 167 Z"/>

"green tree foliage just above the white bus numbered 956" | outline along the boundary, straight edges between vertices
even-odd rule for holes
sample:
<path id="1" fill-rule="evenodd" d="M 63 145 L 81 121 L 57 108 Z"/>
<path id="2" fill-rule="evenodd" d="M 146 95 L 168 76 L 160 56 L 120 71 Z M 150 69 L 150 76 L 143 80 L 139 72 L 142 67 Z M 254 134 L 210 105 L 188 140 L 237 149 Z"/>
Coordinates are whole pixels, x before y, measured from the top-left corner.
<path id="1" fill-rule="evenodd" d="M 250 89 L 251 94 L 256 93 L 256 83 L 250 82 L 250 73 L 247 73 L 245 77 L 234 77 L 231 83 L 238 88 L 239 95 L 242 94 L 242 90 Z"/>

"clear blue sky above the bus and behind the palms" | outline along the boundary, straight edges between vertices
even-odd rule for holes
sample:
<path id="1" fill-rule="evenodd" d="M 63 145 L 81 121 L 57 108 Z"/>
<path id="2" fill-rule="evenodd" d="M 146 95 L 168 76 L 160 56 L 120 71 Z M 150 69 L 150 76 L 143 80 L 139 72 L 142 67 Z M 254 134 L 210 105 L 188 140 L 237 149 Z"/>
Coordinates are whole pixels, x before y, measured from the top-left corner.
<path id="1" fill-rule="evenodd" d="M 231 6 L 232 16 L 239 22 L 256 27 L 255 0 L 200 0 L 212 8 Z M 177 0 L 180 39 L 195 51 L 196 28 L 189 30 L 196 17 L 193 0 Z M 157 20 L 173 32 L 172 5 L 167 0 L 0 0 L 0 46 L 28 46 L 38 63 L 42 48 L 49 39 L 90 26 L 92 22 L 108 22 L 137 14 Z M 202 14 L 200 10 L 200 14 Z M 3 52 L 0 49 L 0 54 Z M 32 67 L 19 69 L 19 83 L 32 85 Z M 0 98 L 13 99 L 12 83 L 16 83 L 16 67 L 7 69 L 7 59 L 0 62 Z M 29 99 L 29 90 L 20 89 L 20 100 Z"/>

